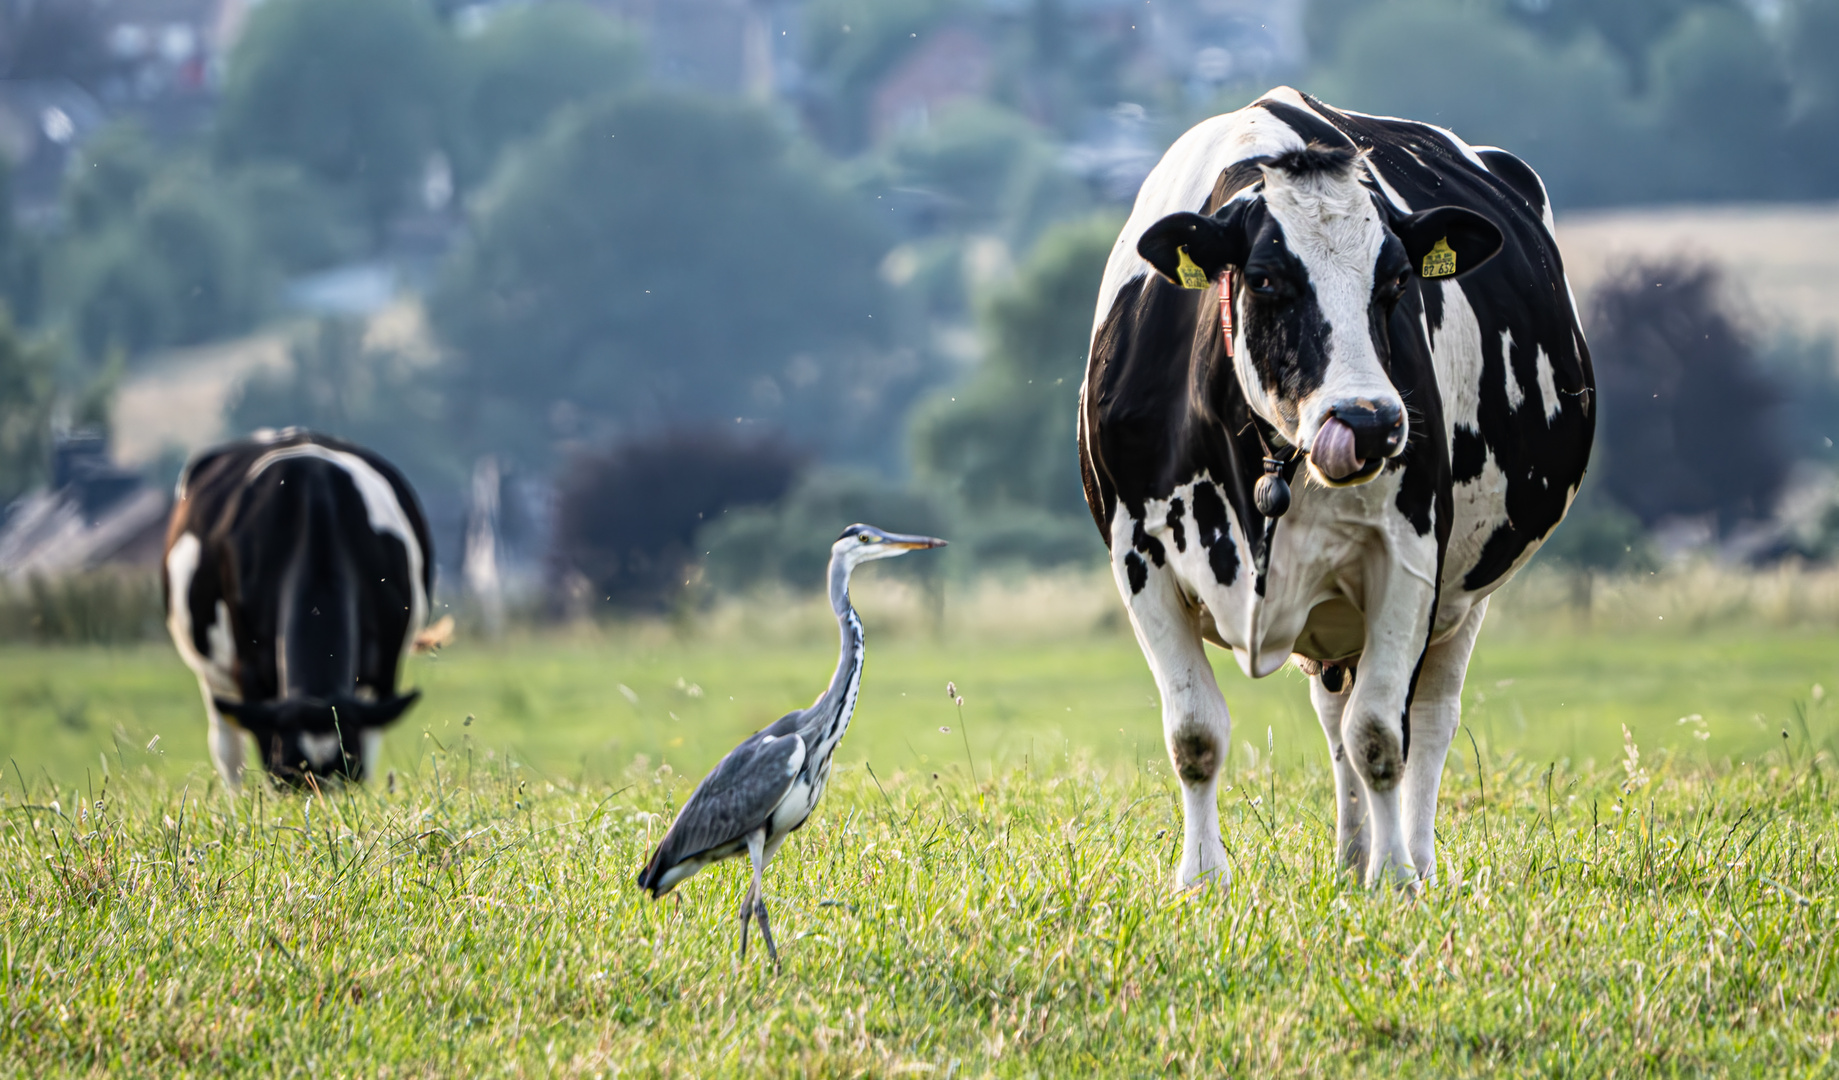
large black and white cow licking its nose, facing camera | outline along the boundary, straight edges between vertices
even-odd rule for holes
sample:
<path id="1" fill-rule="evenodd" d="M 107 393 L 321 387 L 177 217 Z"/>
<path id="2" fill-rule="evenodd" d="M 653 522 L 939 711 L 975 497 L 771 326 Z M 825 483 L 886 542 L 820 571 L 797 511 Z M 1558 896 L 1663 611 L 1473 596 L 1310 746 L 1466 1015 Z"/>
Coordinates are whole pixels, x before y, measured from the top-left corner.
<path id="1" fill-rule="evenodd" d="M 1571 506 L 1593 396 L 1513 155 L 1287 86 L 1170 147 L 1105 267 L 1079 462 L 1162 692 L 1177 885 L 1227 868 L 1203 638 L 1311 673 L 1346 865 L 1434 876 L 1469 649 Z"/>

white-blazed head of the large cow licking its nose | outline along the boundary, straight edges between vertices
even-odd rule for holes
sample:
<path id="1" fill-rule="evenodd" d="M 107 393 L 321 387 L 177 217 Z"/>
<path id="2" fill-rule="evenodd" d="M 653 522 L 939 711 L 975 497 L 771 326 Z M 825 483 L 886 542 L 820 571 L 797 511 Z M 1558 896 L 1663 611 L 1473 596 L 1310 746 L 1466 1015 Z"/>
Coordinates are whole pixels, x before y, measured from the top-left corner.
<path id="1" fill-rule="evenodd" d="M 1352 149 L 1252 162 L 1263 180 L 1212 217 L 1171 213 L 1137 243 L 1164 278 L 1234 270 L 1234 368 L 1247 403 L 1309 454 L 1324 484 L 1370 480 L 1411 436 L 1388 322 L 1416 278 L 1458 276 L 1501 248 L 1460 206 L 1398 213 L 1359 182 Z"/>

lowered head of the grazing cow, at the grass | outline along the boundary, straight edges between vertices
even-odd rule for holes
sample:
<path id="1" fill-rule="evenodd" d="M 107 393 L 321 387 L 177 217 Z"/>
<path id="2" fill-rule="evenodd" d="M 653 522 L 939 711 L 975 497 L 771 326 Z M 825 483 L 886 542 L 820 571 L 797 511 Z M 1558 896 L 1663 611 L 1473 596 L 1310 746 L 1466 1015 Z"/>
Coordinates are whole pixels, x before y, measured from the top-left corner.
<path id="1" fill-rule="evenodd" d="M 364 778 L 364 732 L 394 723 L 421 697 L 419 690 L 384 701 L 340 695 L 281 697 L 278 701 L 230 701 L 217 697 L 217 712 L 256 736 L 261 764 L 276 780 L 300 786 L 307 776 Z"/>

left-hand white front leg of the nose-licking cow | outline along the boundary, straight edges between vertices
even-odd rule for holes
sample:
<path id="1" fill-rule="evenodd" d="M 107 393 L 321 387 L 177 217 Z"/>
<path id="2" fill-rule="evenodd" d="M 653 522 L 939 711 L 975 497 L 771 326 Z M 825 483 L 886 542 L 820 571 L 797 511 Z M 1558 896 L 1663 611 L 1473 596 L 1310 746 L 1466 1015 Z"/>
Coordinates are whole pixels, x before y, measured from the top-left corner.
<path id="1" fill-rule="evenodd" d="M 1219 839 L 1219 767 L 1232 749 L 1232 718 L 1206 661 L 1199 611 L 1181 592 L 1173 574 L 1135 550 L 1114 557 L 1113 569 L 1137 644 L 1162 694 L 1162 738 L 1181 778 L 1182 837 L 1175 887 L 1186 889 L 1210 874 L 1227 878 L 1227 846 Z"/>

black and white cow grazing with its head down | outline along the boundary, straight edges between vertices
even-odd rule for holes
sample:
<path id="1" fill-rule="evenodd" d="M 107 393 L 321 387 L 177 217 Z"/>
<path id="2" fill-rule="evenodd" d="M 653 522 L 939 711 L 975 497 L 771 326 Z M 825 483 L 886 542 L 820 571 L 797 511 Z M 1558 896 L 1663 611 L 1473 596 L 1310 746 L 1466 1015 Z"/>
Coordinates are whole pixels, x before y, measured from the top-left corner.
<path id="1" fill-rule="evenodd" d="M 395 673 L 428 615 L 434 548 L 394 465 L 287 429 L 200 453 L 166 534 L 167 629 L 197 672 L 211 756 L 243 778 L 362 778 L 414 705 Z"/>

